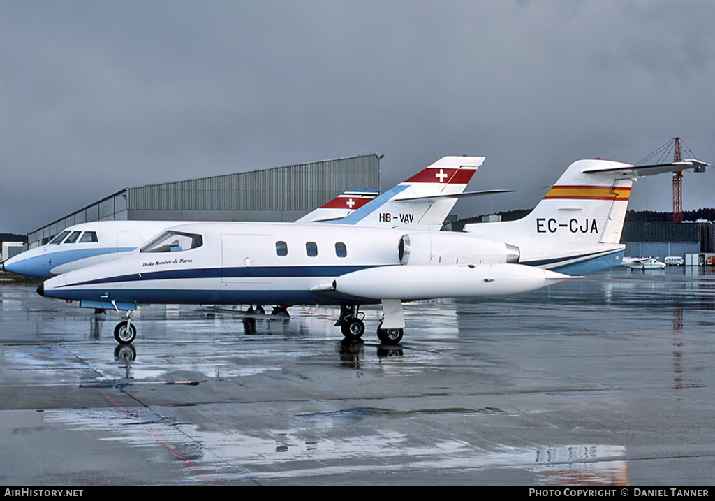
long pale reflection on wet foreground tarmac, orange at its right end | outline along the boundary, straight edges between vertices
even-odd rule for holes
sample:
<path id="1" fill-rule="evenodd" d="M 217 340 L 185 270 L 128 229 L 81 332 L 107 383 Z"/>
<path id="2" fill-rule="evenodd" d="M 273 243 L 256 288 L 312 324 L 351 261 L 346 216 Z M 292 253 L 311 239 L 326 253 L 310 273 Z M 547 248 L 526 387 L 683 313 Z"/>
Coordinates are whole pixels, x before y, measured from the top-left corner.
<path id="1" fill-rule="evenodd" d="M 275 472 L 287 480 L 332 475 L 369 475 L 390 470 L 525 468 L 542 485 L 626 485 L 625 449 L 607 445 L 517 449 L 494 444 L 483 450 L 460 440 L 429 443 L 389 429 L 366 430 L 360 422 L 375 417 L 373 409 L 346 409 L 296 416 L 290 429 L 266 429 L 260 434 L 237 429 L 204 429 L 157 419 L 150 412 L 123 414 L 116 409 L 62 409 L 44 412 L 47 424 L 89 432 L 102 441 L 126 447 L 180 451 L 177 457 L 194 464 L 193 482 L 206 475 L 217 482 L 270 479 Z M 358 425 L 358 432 L 350 426 Z M 333 431 L 343 431 L 337 438 Z M 210 472 L 210 473 L 207 473 Z"/>

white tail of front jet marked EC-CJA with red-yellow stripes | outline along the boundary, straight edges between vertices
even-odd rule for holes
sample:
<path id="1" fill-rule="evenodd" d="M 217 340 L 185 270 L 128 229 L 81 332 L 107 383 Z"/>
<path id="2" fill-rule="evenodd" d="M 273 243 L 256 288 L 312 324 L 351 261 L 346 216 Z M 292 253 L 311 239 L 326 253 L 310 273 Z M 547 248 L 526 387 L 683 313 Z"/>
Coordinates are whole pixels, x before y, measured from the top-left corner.
<path id="1" fill-rule="evenodd" d="M 465 225 L 470 234 L 500 240 L 521 249 L 521 263 L 573 272 L 591 273 L 613 260 L 603 256 L 623 253 L 621 233 L 633 180 L 664 172 L 704 172 L 706 163 L 686 160 L 671 164 L 629 165 L 607 160 L 573 162 L 536 208 L 516 221 Z M 593 261 L 591 268 L 576 268 Z M 588 270 L 588 271 L 583 271 Z"/>

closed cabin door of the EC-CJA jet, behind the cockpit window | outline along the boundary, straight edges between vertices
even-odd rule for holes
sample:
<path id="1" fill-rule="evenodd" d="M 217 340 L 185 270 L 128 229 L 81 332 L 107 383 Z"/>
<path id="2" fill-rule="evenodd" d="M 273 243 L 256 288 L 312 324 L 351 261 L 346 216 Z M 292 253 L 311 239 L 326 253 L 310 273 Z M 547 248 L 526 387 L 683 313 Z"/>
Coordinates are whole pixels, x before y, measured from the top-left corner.
<path id="1" fill-rule="evenodd" d="M 266 273 L 268 235 L 221 235 L 222 302 L 236 304 L 270 303 L 272 278 Z"/>

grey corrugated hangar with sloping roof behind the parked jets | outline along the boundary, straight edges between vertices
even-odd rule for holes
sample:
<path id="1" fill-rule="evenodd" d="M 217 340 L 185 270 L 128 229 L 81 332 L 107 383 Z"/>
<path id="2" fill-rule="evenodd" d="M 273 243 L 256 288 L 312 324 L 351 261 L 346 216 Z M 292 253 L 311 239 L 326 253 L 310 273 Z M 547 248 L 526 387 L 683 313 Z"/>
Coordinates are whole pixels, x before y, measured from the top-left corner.
<path id="1" fill-rule="evenodd" d="M 28 233 L 28 247 L 91 221 L 295 221 L 346 190 L 379 190 L 380 158 L 360 155 L 124 188 Z"/>

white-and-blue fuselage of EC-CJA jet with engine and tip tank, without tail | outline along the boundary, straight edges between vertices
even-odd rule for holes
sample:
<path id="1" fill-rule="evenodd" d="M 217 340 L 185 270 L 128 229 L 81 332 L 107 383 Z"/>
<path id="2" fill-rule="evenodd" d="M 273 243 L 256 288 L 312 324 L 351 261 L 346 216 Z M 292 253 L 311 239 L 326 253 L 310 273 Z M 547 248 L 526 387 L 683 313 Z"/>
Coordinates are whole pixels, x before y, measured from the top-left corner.
<path id="1" fill-rule="evenodd" d="M 429 241 L 409 256 L 405 235 L 420 241 L 420 232 L 350 225 L 180 225 L 127 258 L 51 278 L 41 293 L 119 309 L 136 303 L 357 304 L 388 296 L 411 301 L 443 296 L 435 293 L 437 266 L 453 283 L 445 296 L 501 295 L 545 285 L 543 270 L 507 264 L 513 248 L 504 243 L 425 232 Z M 373 271 L 363 273 L 368 269 Z M 387 296 L 380 295 L 383 287 Z"/>

